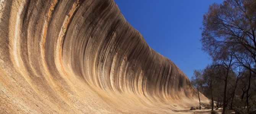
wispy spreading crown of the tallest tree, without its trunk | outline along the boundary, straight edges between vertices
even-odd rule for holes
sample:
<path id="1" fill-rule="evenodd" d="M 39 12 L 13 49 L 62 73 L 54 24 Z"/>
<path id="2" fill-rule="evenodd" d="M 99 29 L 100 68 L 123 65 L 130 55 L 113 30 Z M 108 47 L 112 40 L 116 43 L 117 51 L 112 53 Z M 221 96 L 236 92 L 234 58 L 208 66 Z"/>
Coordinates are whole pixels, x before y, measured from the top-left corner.
<path id="1" fill-rule="evenodd" d="M 234 51 L 243 51 L 256 63 L 256 1 L 255 0 L 226 0 L 222 4 L 212 4 L 208 13 L 203 16 L 202 43 L 203 47 L 216 50 L 221 47 L 235 47 Z M 232 48 L 229 48 L 232 49 Z M 243 61 L 243 67 L 256 73 Z"/>

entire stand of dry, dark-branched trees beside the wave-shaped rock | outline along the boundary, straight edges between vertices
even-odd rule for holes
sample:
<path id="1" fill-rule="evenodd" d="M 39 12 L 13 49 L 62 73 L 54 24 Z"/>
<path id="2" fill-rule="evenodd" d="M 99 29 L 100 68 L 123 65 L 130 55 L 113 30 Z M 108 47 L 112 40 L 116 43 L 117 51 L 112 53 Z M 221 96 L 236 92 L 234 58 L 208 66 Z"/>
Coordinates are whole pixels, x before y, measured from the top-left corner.
<path id="1" fill-rule="evenodd" d="M 202 45 L 213 63 L 195 70 L 192 83 L 223 114 L 256 113 L 256 0 L 212 4 L 203 16 Z"/>

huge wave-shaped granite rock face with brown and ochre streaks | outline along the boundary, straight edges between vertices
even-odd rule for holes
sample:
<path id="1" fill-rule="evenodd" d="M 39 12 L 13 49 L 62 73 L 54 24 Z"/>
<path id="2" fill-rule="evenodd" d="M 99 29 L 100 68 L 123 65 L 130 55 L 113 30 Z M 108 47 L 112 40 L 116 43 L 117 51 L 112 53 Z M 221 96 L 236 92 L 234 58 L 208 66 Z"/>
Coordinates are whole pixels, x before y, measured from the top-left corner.
<path id="1" fill-rule="evenodd" d="M 0 0 L 0 104 L 0 113 L 176 114 L 198 98 L 113 0 Z"/>

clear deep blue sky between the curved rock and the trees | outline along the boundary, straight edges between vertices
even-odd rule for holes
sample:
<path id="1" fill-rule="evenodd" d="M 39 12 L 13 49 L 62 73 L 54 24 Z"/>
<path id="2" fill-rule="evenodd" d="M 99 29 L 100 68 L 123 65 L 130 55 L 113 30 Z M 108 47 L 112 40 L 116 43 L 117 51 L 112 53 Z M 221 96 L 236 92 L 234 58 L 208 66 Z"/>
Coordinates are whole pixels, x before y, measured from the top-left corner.
<path id="1" fill-rule="evenodd" d="M 191 79 L 211 59 L 201 50 L 203 14 L 223 0 L 115 0 L 125 19 L 149 46 L 172 60 Z"/>

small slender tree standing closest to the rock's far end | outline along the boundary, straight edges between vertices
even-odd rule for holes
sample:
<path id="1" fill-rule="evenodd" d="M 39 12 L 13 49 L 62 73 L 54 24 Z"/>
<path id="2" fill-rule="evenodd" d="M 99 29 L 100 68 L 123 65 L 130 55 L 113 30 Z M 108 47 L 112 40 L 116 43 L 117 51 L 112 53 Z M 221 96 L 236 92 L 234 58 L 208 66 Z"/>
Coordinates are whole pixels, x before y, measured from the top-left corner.
<path id="1" fill-rule="evenodd" d="M 196 88 L 194 92 L 198 95 L 198 100 L 199 100 L 199 109 L 201 110 L 201 101 L 200 101 L 200 92 L 199 89 L 202 87 L 202 71 L 200 70 L 194 70 L 194 75 L 192 76 L 191 83 L 192 85 Z"/>

